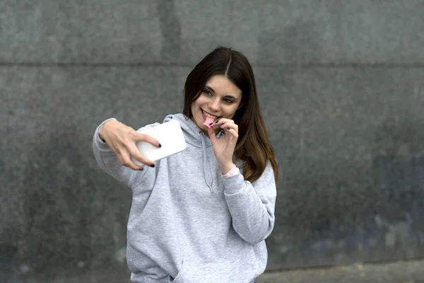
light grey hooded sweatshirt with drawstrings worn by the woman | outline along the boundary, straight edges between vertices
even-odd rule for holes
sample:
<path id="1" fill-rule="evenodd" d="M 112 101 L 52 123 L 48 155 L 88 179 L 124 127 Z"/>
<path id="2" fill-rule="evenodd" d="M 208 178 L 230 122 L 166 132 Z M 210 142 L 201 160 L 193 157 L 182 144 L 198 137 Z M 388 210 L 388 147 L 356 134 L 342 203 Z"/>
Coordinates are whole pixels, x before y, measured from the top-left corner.
<path id="1" fill-rule="evenodd" d="M 254 183 L 241 173 L 223 178 L 211 140 L 182 114 L 163 122 L 172 119 L 187 149 L 143 171 L 119 163 L 98 136 L 101 125 L 93 137 L 100 168 L 132 190 L 126 250 L 132 282 L 254 282 L 265 270 L 264 240 L 274 225 L 271 165 Z"/>

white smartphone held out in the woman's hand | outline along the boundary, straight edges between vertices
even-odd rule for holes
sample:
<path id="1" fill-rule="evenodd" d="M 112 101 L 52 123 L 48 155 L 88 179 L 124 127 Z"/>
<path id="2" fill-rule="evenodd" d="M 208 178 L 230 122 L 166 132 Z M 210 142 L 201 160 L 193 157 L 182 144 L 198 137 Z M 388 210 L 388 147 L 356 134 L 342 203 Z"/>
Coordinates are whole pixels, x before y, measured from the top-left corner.
<path id="1" fill-rule="evenodd" d="M 148 134 L 149 136 L 158 139 L 160 145 L 162 145 L 159 148 L 146 141 L 136 142 L 136 146 L 141 154 L 153 162 L 184 151 L 187 147 L 184 135 L 182 134 L 182 129 L 177 120 L 170 120 L 169 122 L 165 122 L 156 127 L 146 128 L 137 132 Z M 131 160 L 139 166 L 143 165 L 132 156 Z"/>

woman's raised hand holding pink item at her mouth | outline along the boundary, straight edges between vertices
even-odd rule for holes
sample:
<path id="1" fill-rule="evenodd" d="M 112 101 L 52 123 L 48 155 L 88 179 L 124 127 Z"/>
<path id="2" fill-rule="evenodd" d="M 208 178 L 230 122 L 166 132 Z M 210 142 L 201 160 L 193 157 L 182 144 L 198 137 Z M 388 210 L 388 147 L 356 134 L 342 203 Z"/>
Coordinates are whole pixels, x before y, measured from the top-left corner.
<path id="1" fill-rule="evenodd" d="M 223 174 L 228 173 L 234 166 L 232 155 L 234 154 L 235 145 L 238 139 L 238 126 L 230 119 L 221 118 L 208 129 L 209 138 L 211 139 L 213 152 L 215 153 Z M 216 138 L 215 130 L 220 127 L 225 131 L 225 136 L 220 139 Z"/>

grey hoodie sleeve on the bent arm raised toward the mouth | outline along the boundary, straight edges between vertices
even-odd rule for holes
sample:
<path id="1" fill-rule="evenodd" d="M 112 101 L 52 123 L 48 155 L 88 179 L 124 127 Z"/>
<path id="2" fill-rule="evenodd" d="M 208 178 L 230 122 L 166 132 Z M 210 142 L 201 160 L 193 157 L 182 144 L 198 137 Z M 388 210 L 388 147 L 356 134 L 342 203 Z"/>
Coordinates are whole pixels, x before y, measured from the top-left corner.
<path id="1" fill-rule="evenodd" d="M 241 173 L 223 180 L 232 227 L 248 243 L 264 241 L 275 222 L 277 192 L 271 163 L 254 183 L 245 181 Z"/>

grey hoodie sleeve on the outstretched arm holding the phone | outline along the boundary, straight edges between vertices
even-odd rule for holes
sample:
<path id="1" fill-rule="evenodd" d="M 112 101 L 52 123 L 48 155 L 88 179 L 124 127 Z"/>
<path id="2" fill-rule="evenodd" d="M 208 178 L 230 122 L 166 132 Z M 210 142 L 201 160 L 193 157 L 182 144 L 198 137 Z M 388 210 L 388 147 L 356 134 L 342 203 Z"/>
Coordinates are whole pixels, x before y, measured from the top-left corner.
<path id="1" fill-rule="evenodd" d="M 122 166 L 122 164 L 119 163 L 117 156 L 114 154 L 114 151 L 110 149 L 105 141 L 100 139 L 100 127 L 102 127 L 105 122 L 111 119 L 112 118 L 105 120 L 97 127 L 97 129 L 95 129 L 93 136 L 93 153 L 95 160 L 103 171 L 111 175 L 113 178 L 119 180 L 119 182 L 125 183 L 131 187 L 131 185 L 133 185 L 136 180 L 139 180 L 144 174 L 146 174 L 146 171 L 148 170 L 145 169 L 144 171 L 136 171 L 126 166 Z"/>

